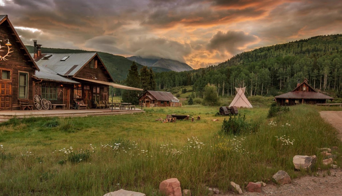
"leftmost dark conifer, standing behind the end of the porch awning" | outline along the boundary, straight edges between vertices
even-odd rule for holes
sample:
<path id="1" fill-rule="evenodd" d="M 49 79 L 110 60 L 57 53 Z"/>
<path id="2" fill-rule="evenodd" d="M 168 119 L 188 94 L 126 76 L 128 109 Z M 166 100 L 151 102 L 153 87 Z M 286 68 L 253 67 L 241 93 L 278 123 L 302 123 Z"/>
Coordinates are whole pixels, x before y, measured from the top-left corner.
<path id="1" fill-rule="evenodd" d="M 138 73 L 138 67 L 133 61 L 130 70 L 128 70 L 128 75 L 126 79 L 126 85 L 130 87 L 140 88 L 140 76 Z M 122 93 L 122 101 L 127 103 L 132 103 L 133 105 L 139 104 L 138 94 L 141 92 L 136 90 L 124 90 Z"/>

